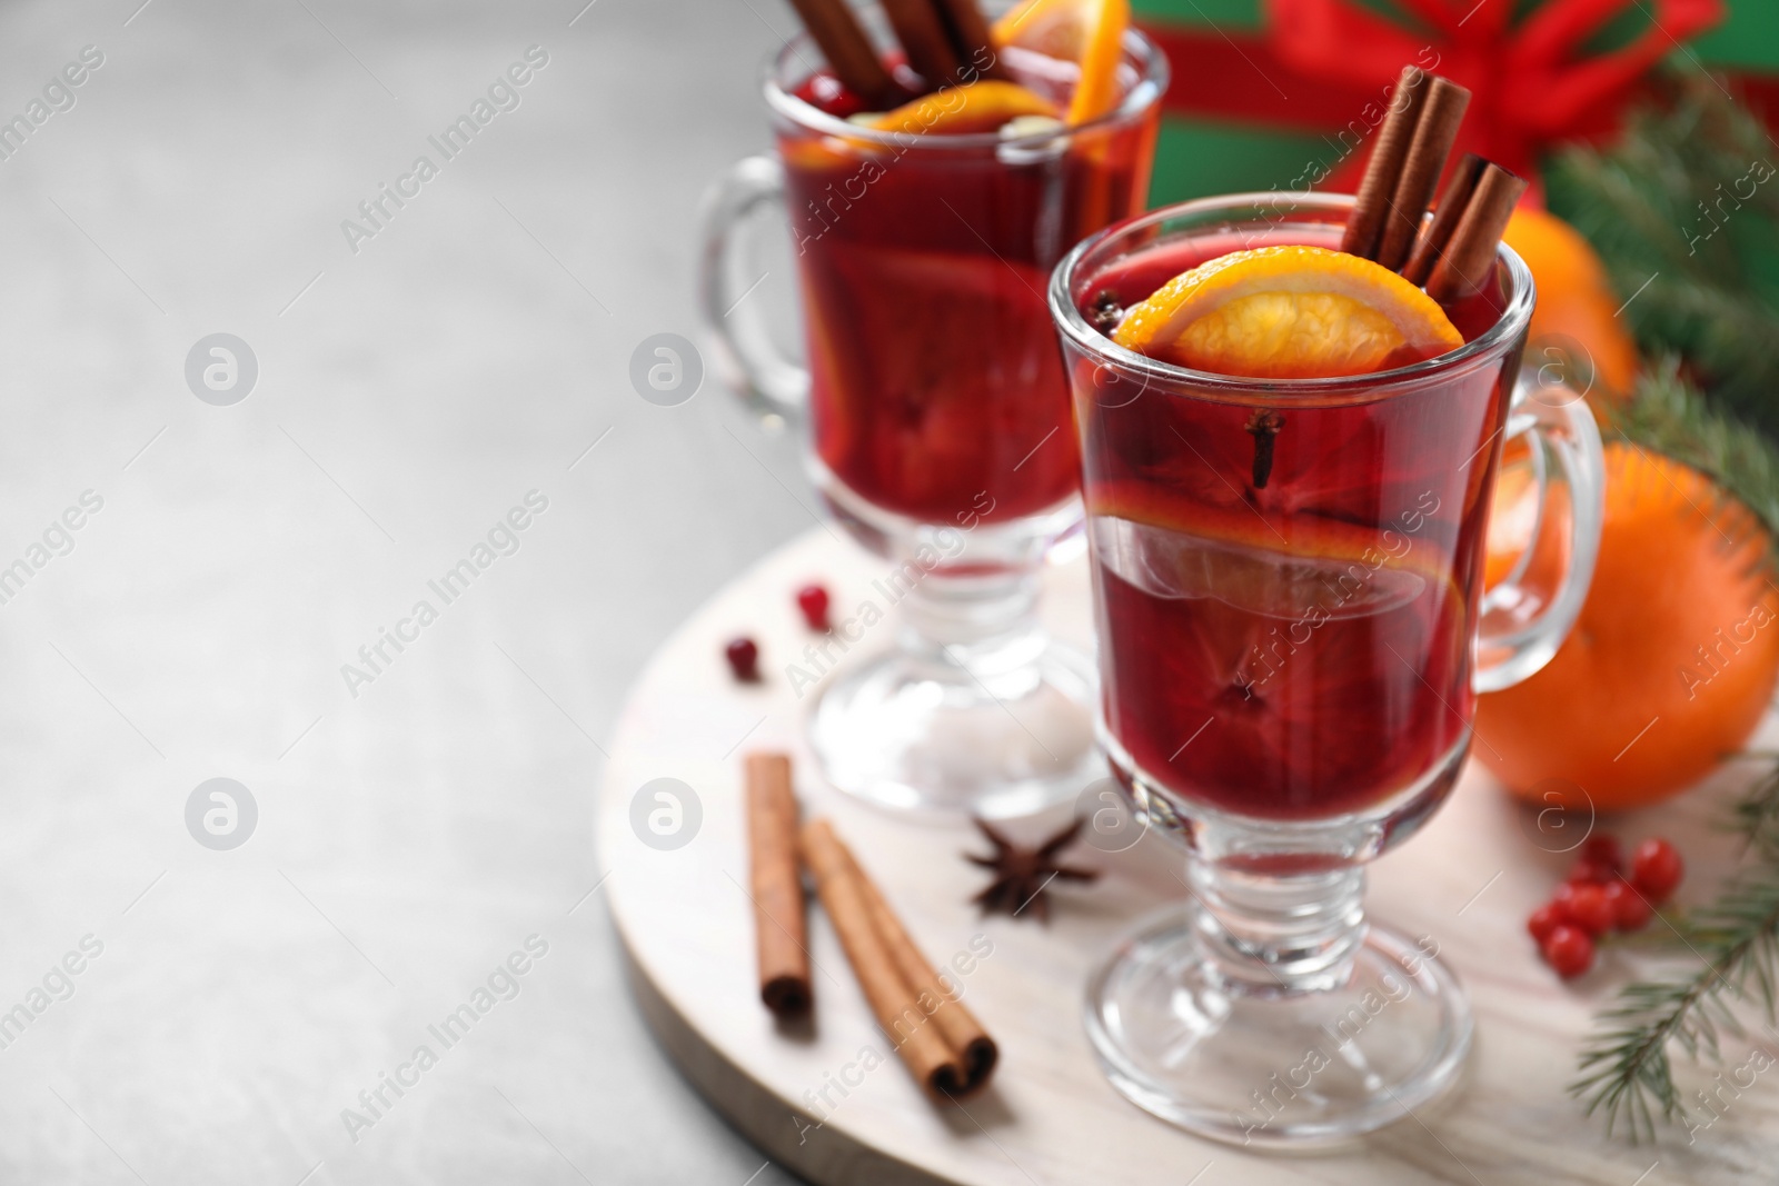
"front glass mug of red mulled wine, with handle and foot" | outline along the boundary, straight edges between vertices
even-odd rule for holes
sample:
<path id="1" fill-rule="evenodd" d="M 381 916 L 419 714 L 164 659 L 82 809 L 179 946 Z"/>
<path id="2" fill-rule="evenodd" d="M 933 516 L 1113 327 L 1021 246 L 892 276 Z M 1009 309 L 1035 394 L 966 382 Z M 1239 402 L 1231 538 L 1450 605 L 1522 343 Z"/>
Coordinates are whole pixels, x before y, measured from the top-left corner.
<path id="1" fill-rule="evenodd" d="M 1057 268 L 1082 436 L 1101 740 L 1187 853 L 1188 903 L 1089 987 L 1114 1085 L 1236 1143 L 1332 1142 L 1448 1086 L 1469 1047 L 1437 935 L 1366 923 L 1364 864 L 1445 802 L 1475 693 L 1544 665 L 1587 594 L 1601 452 L 1589 407 L 1519 370 L 1533 286 L 1505 245 L 1450 308 L 1466 345 L 1373 375 L 1261 381 L 1112 343 L 1103 317 L 1231 251 L 1338 247 L 1343 196 L 1158 210 Z M 1096 317 L 1099 315 L 1099 317 Z M 1484 589 L 1512 443 L 1539 541 Z M 1555 569 L 1555 576 L 1553 571 Z"/>

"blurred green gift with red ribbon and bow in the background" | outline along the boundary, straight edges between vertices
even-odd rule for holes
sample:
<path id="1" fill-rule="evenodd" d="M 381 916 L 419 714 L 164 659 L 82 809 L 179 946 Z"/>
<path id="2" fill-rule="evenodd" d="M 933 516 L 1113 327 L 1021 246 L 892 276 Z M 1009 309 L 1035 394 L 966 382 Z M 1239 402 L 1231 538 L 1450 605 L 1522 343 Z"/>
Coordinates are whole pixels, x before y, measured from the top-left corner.
<path id="1" fill-rule="evenodd" d="M 1357 185 L 1389 85 L 1418 64 L 1471 89 L 1459 151 L 1537 162 L 1617 126 L 1676 53 L 1779 116 L 1774 0 L 1133 0 L 1172 62 L 1149 199 Z"/>

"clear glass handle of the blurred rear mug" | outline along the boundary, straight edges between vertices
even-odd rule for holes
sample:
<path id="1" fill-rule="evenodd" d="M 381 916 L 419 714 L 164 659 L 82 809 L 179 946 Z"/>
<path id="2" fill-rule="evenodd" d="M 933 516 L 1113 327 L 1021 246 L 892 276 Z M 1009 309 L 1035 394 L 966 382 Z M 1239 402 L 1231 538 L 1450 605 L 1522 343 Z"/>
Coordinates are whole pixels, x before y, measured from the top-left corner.
<path id="1" fill-rule="evenodd" d="M 754 212 L 785 206 L 785 165 L 772 156 L 735 162 L 704 201 L 704 244 L 697 268 L 699 311 L 724 368 L 740 379 L 744 398 L 767 414 L 795 420 L 809 400 L 809 372 L 772 341 L 758 304 L 745 301 L 747 247 L 758 220 Z"/>

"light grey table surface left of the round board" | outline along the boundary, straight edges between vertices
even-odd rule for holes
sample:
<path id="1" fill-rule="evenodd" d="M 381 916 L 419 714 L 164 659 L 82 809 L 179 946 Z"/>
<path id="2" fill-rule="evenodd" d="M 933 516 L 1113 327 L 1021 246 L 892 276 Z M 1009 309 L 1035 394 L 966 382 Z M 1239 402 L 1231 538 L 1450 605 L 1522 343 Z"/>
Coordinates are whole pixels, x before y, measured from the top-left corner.
<path id="1" fill-rule="evenodd" d="M 662 1058 L 589 889 L 626 685 L 809 525 L 792 439 L 628 379 L 696 333 L 699 197 L 793 20 L 584 4 L 0 4 L 4 1182 L 790 1181 Z M 213 333 L 258 366 L 229 405 L 187 382 Z M 233 850 L 187 825 L 215 777 Z"/>

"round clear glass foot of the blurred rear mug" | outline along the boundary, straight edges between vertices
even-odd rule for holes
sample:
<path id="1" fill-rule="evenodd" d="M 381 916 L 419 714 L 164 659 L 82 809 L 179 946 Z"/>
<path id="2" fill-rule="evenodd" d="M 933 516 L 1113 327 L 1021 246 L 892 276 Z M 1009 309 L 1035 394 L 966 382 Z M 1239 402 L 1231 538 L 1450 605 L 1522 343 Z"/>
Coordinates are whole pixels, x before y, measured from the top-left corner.
<path id="1" fill-rule="evenodd" d="M 1042 642 L 1018 683 L 890 651 L 841 670 L 809 717 L 822 775 L 909 814 L 1005 820 L 1105 777 L 1092 661 Z"/>

